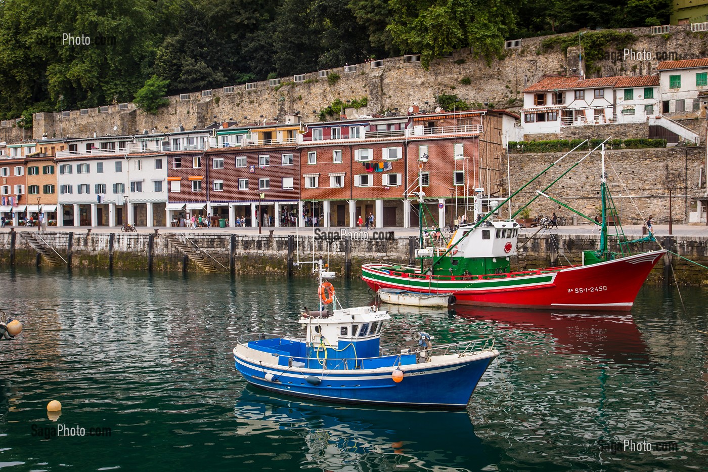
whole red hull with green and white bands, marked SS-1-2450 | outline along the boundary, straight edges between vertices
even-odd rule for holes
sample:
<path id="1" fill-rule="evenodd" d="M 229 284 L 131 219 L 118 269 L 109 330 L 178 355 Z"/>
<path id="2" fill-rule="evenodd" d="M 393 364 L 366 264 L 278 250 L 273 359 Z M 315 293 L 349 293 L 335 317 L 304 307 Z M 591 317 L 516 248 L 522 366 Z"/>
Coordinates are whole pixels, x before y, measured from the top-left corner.
<path id="1" fill-rule="evenodd" d="M 632 309 L 639 288 L 666 251 L 646 252 L 588 266 L 539 269 L 502 276 L 426 276 L 397 272 L 392 264 L 365 264 L 373 290 L 454 293 L 463 305 L 575 310 Z"/>

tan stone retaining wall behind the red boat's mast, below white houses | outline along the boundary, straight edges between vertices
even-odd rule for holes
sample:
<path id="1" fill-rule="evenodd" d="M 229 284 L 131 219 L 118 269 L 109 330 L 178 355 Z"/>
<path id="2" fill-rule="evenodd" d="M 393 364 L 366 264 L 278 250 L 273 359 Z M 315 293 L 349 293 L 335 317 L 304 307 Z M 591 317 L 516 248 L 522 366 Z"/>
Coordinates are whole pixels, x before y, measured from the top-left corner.
<path id="1" fill-rule="evenodd" d="M 537 175 L 563 154 L 510 154 L 511 189 L 519 189 L 532 176 Z M 551 184 L 585 154 L 586 152 L 571 153 L 520 193 L 515 198 L 513 208 L 529 201 L 537 190 Z M 639 213 L 644 215 L 644 218 L 653 215 L 654 223 L 668 223 L 668 189 L 672 186 L 673 222 L 688 223 L 687 212 L 691 208 L 692 197 L 705 192 L 705 162 L 704 147 L 608 150 L 605 163 L 607 184 L 622 223 L 641 224 Z M 595 218 L 600 212 L 601 169 L 600 152 L 590 154 L 546 193 L 590 218 Z M 543 197 L 537 198 L 529 208 L 532 218 L 537 215 L 548 216 L 554 211 L 556 215 L 566 216 L 568 220 L 571 220 L 572 216 L 566 208 Z M 586 220 L 578 217 L 578 224 L 583 224 L 584 221 Z"/>

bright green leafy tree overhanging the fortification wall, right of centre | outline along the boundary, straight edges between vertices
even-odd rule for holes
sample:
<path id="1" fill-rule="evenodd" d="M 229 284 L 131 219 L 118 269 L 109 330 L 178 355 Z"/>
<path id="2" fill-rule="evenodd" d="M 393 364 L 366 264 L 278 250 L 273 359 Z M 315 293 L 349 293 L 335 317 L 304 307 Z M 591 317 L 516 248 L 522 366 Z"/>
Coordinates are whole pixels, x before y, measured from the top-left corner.
<path id="1" fill-rule="evenodd" d="M 423 67 L 430 60 L 472 46 L 474 55 L 493 57 L 503 51 L 515 21 L 515 3 L 506 0 L 390 0 L 387 31 L 404 52 L 419 52 Z"/>

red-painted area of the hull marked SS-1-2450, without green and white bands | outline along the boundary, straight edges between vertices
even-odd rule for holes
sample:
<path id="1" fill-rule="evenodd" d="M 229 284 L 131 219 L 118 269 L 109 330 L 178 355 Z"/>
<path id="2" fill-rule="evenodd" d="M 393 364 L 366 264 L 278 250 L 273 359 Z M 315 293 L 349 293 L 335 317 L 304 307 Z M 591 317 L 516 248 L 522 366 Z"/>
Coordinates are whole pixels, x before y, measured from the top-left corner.
<path id="1" fill-rule="evenodd" d="M 484 291 L 440 289 L 432 293 L 455 293 L 457 303 L 463 305 L 628 311 L 632 309 L 639 288 L 649 276 L 649 272 L 665 253 L 666 251 L 649 252 L 590 266 L 563 269 L 556 273 L 553 283 L 539 287 Z M 400 279 L 405 281 L 404 278 Z M 370 280 L 365 282 L 373 290 L 404 288 L 413 292 L 431 293 L 426 289 L 399 286 L 395 283 Z"/>

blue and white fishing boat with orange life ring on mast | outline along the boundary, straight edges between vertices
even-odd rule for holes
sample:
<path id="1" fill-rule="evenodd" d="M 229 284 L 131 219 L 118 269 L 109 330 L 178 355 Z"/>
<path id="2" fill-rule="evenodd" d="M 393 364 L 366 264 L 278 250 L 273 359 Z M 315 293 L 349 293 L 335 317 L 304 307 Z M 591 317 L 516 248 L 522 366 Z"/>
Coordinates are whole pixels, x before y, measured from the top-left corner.
<path id="1" fill-rule="evenodd" d="M 479 379 L 499 355 L 493 339 L 433 346 L 430 335 L 415 332 L 413 346 L 386 352 L 380 338 L 391 318 L 387 311 L 376 305 L 337 308 L 334 288 L 325 280 L 332 279 L 333 272 L 324 270 L 320 260 L 316 273 L 319 310 L 306 308 L 299 314 L 304 339 L 256 333 L 237 340 L 236 369 L 246 381 L 334 403 L 436 410 L 467 406 Z"/>

